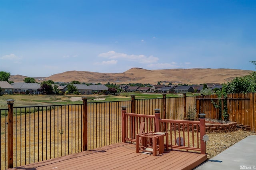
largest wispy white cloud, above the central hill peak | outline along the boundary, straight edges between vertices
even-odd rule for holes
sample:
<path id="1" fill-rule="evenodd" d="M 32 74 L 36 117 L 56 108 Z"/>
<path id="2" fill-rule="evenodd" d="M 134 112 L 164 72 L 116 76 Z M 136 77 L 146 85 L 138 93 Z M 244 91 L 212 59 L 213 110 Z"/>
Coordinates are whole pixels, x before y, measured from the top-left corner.
<path id="1" fill-rule="evenodd" d="M 109 59 L 124 59 L 126 61 L 135 61 L 138 63 L 156 63 L 159 59 L 158 57 L 154 57 L 152 55 L 150 55 L 149 57 L 147 57 L 146 55 L 128 55 L 125 53 L 116 53 L 115 51 L 108 51 L 106 53 L 100 53 L 98 55 L 99 57 L 106 57 Z"/>

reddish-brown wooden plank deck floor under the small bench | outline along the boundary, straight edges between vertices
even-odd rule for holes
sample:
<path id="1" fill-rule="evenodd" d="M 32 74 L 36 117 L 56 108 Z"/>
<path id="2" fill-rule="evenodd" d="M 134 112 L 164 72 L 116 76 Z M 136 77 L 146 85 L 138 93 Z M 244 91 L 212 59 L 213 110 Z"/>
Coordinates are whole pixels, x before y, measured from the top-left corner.
<path id="1" fill-rule="evenodd" d="M 135 144 L 118 143 L 43 162 L 24 165 L 12 170 L 81 170 L 81 169 L 173 169 L 191 170 L 202 164 L 206 155 L 169 150 L 152 156 L 136 153 Z"/>

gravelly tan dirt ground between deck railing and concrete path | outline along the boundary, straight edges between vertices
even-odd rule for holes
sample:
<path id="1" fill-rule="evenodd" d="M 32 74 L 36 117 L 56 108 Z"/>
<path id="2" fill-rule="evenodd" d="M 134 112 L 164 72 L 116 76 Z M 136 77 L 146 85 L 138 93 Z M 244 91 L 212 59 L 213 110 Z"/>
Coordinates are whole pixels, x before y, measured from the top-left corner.
<path id="1" fill-rule="evenodd" d="M 238 129 L 234 132 L 208 133 L 207 135 L 209 141 L 206 144 L 206 152 L 207 158 L 210 159 L 247 136 L 256 135 L 256 133 Z"/>

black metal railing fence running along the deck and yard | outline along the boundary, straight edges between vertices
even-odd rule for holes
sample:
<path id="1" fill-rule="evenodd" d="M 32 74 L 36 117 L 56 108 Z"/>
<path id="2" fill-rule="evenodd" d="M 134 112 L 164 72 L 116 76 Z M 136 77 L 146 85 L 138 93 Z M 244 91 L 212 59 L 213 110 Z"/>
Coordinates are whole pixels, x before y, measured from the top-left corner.
<path id="1" fill-rule="evenodd" d="M 87 103 L 84 97 L 82 104 L 0 109 L 1 169 L 121 142 L 122 106 L 126 106 L 127 112 L 142 115 L 154 115 L 154 109 L 160 109 L 165 111 L 161 113 L 161 118 L 165 119 L 184 119 L 184 110 L 195 108 L 195 97 L 185 97 L 187 106 L 184 109 L 184 97 L 163 96 L 157 99 L 132 96 L 131 101 L 92 103 Z M 9 112 L 13 113 L 12 121 L 8 118 Z M 8 138 L 12 138 L 12 148 L 8 148 Z"/>

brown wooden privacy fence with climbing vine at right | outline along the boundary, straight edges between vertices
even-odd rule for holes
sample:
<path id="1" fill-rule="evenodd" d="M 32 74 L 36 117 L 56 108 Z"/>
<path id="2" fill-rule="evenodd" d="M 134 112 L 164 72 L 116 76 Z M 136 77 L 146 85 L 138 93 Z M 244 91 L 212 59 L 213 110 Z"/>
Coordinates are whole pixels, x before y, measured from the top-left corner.
<path id="1" fill-rule="evenodd" d="M 237 122 L 237 126 L 256 131 L 256 93 L 232 93 L 226 98 L 217 95 L 201 95 L 196 97 L 196 113 L 205 113 L 206 118 Z"/>

